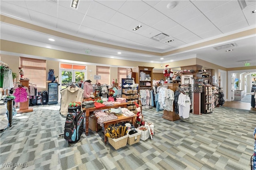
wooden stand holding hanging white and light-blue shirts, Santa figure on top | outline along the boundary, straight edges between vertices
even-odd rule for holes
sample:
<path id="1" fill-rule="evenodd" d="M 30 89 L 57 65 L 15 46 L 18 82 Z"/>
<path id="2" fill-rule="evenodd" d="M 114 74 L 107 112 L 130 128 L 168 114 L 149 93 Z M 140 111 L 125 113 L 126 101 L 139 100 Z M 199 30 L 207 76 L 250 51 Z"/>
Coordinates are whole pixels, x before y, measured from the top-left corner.
<path id="1" fill-rule="evenodd" d="M 176 91 L 176 89 L 179 87 L 179 83 L 164 83 L 163 87 L 167 87 L 168 89 L 171 89 L 172 91 Z M 173 106 L 174 108 L 174 106 Z M 180 116 L 176 114 L 174 111 L 166 111 L 164 110 L 164 114 L 162 118 L 167 119 L 169 121 L 177 121 L 180 119 Z"/>

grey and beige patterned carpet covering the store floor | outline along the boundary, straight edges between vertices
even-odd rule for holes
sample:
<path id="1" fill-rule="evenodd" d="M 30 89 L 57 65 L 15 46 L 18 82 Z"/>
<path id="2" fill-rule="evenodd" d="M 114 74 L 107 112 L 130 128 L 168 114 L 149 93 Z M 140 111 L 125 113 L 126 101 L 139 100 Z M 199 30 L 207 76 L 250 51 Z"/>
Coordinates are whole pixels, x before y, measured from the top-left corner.
<path id="1" fill-rule="evenodd" d="M 14 117 L 12 127 L 0 134 L 1 169 L 21 169 L 17 164 L 23 163 L 24 170 L 250 170 L 254 111 L 217 107 L 212 114 L 172 122 L 145 109 L 145 121 L 154 123 L 153 140 L 115 150 L 104 144 L 102 131 L 89 130 L 78 143 L 68 144 L 58 136 L 65 121 L 59 108 L 35 106 Z"/>

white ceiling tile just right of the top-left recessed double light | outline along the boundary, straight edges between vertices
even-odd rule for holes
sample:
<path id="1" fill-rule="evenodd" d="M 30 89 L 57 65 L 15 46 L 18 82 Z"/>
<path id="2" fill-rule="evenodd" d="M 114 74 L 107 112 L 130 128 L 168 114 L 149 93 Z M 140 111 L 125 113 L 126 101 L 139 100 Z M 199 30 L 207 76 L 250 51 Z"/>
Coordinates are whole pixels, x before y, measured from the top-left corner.
<path id="1" fill-rule="evenodd" d="M 115 13 L 115 10 L 99 4 L 98 2 L 92 1 L 87 15 L 93 18 L 97 18 L 98 20 L 107 22 Z"/>

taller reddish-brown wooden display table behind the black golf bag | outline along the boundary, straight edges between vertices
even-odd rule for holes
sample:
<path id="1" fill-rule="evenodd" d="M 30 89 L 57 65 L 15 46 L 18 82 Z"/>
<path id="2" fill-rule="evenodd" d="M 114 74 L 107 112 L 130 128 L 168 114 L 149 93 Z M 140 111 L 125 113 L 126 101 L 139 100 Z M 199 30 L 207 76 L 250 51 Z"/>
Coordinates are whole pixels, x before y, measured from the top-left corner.
<path id="1" fill-rule="evenodd" d="M 93 112 L 95 110 L 103 110 L 103 109 L 118 108 L 118 107 L 127 108 L 127 104 L 128 103 L 120 103 L 120 104 L 116 104 L 114 106 L 104 106 L 104 107 L 100 107 L 100 108 L 96 108 L 96 107 L 91 107 L 91 108 L 87 108 L 87 109 L 83 108 L 83 112 L 85 113 L 85 121 L 86 121 L 86 136 L 88 135 L 90 112 Z"/>

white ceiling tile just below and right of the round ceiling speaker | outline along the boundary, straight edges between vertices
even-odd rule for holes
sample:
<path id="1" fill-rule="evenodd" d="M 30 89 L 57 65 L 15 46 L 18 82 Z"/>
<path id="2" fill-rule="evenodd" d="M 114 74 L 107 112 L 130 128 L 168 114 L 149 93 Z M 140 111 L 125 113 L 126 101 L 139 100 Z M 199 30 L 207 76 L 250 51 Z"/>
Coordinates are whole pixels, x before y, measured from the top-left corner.
<path id="1" fill-rule="evenodd" d="M 176 12 L 169 17 L 179 24 L 182 24 L 188 20 L 191 20 L 192 18 L 200 16 L 201 14 L 202 13 L 194 6 L 194 4 L 189 4 L 188 6 L 182 8 L 181 12 Z"/>

